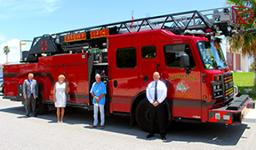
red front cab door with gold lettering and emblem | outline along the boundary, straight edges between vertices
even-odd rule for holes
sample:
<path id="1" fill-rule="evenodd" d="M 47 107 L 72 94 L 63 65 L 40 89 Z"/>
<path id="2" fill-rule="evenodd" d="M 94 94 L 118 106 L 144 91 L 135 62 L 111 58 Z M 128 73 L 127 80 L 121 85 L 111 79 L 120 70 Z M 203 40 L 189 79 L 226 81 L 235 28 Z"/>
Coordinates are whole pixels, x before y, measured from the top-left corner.
<path id="1" fill-rule="evenodd" d="M 201 72 L 196 64 L 196 48 L 189 40 L 160 43 L 162 79 L 169 84 L 167 99 L 173 118 L 202 119 Z M 188 54 L 190 74 L 180 67 L 180 56 Z M 197 54 L 198 55 L 198 54 Z M 199 59 L 199 58 L 197 58 Z"/>

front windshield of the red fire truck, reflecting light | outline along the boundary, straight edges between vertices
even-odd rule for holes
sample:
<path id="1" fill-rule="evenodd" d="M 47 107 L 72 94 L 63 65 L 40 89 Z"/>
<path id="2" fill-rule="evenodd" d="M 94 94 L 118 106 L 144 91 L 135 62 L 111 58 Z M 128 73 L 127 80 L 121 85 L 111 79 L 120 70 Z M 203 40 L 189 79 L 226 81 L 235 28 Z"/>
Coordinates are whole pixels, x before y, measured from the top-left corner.
<path id="1" fill-rule="evenodd" d="M 200 41 L 197 43 L 197 48 L 204 62 L 204 68 L 220 69 L 228 67 L 219 43 Z"/>

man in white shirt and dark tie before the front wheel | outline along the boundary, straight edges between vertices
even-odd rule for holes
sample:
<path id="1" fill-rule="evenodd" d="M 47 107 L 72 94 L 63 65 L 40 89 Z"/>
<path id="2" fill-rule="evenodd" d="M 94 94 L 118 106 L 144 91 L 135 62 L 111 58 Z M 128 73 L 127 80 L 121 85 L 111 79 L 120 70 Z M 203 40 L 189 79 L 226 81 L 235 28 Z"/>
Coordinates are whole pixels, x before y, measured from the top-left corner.
<path id="1" fill-rule="evenodd" d="M 149 114 L 151 116 L 150 119 L 150 130 L 147 138 L 154 137 L 154 129 L 156 125 L 156 117 L 159 124 L 159 131 L 162 140 L 166 140 L 165 138 L 165 124 L 164 124 L 164 99 L 167 95 L 166 85 L 160 81 L 160 75 L 158 72 L 153 74 L 154 81 L 148 84 L 147 87 L 147 98 L 149 101 Z"/>

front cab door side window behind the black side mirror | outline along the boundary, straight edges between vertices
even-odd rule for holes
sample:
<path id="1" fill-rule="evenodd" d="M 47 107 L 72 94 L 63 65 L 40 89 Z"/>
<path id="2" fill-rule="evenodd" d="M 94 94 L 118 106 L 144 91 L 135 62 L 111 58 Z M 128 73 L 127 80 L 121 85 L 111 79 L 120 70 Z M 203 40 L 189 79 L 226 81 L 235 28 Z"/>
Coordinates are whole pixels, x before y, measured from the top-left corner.
<path id="1" fill-rule="evenodd" d="M 180 56 L 188 54 L 190 67 L 196 67 L 195 60 L 188 43 L 164 45 L 165 64 L 167 67 L 180 67 Z"/>

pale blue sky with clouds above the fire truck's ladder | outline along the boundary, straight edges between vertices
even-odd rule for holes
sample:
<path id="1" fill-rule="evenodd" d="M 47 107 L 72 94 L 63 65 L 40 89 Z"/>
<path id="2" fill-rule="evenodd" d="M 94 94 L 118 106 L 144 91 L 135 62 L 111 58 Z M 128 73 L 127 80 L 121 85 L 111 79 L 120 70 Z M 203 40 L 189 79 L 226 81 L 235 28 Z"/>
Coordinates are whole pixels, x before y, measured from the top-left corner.
<path id="1" fill-rule="evenodd" d="M 214 2 L 214 3 L 212 3 Z M 0 0 L 0 64 L 20 59 L 20 40 L 76 28 L 225 6 L 226 0 Z M 22 51 L 29 49 L 22 45 Z"/>

